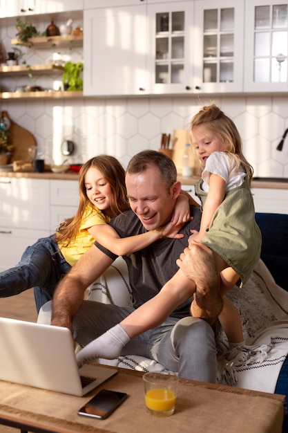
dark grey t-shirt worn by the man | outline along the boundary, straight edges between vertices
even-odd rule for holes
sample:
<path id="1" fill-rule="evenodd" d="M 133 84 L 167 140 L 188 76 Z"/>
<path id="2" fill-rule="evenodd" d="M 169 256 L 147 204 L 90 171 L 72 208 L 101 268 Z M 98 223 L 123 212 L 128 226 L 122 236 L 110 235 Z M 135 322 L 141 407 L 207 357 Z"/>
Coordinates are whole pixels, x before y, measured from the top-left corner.
<path id="1" fill-rule="evenodd" d="M 201 212 L 199 208 L 190 206 L 192 221 L 186 223 L 180 233 L 184 233 L 182 239 L 163 238 L 151 243 L 146 248 L 123 256 L 128 266 L 129 282 L 133 291 L 135 308 L 157 295 L 162 286 L 175 275 L 179 269 L 176 260 L 188 246 L 190 230 L 199 230 Z M 140 219 L 132 210 L 127 210 L 113 219 L 110 225 L 116 230 L 120 237 L 135 236 L 145 233 Z M 117 256 L 107 250 L 97 241 L 95 246 L 106 255 L 115 259 Z M 171 313 L 171 316 L 182 318 L 189 315 L 192 298 L 186 300 Z"/>

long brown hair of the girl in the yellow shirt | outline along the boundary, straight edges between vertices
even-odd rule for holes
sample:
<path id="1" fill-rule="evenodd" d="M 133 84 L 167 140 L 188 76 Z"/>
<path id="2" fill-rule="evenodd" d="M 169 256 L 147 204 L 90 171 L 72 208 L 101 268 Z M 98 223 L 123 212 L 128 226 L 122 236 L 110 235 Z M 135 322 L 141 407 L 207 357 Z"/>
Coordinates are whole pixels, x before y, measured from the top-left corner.
<path id="1" fill-rule="evenodd" d="M 91 212 L 93 205 L 86 195 L 85 175 L 90 167 L 96 167 L 102 173 L 105 181 L 111 188 L 111 209 L 112 217 L 121 214 L 129 208 L 125 186 L 125 171 L 114 156 L 98 155 L 88 160 L 79 172 L 79 207 L 72 218 L 65 219 L 57 228 L 57 242 L 63 242 L 65 246 L 75 239 L 79 230 L 81 219 L 87 205 Z M 105 210 L 102 211 L 105 214 Z"/>

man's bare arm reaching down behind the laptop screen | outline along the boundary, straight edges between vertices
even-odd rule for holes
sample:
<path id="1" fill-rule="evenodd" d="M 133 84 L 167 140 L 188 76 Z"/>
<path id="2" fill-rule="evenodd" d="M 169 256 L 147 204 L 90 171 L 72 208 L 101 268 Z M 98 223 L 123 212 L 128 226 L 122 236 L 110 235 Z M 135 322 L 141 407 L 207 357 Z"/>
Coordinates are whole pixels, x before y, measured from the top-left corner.
<path id="1" fill-rule="evenodd" d="M 52 325 L 65 326 L 72 331 L 73 316 L 83 302 L 86 288 L 112 263 L 113 259 L 94 245 L 85 252 L 55 288 Z"/>

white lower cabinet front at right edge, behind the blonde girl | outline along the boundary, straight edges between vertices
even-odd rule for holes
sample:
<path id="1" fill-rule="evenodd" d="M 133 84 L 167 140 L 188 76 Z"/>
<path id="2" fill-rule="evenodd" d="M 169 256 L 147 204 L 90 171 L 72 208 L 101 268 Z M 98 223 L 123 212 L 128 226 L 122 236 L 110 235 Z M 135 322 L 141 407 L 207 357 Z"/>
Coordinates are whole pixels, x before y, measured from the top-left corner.
<path id="1" fill-rule="evenodd" d="M 288 190 L 253 188 L 252 194 L 256 212 L 287 214 Z M 273 230 L 273 228 L 271 228 L 271 230 Z"/>

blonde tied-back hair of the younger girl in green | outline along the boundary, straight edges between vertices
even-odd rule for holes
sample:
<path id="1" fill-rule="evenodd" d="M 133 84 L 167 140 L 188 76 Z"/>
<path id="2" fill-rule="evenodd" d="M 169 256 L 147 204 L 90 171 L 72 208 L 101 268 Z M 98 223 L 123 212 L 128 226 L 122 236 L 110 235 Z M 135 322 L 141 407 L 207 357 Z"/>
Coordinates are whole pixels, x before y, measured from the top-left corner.
<path id="1" fill-rule="evenodd" d="M 236 169 L 240 166 L 247 174 L 249 185 L 253 176 L 253 167 L 242 154 L 242 140 L 235 123 L 227 117 L 215 104 L 202 107 L 192 118 L 190 131 L 198 125 L 205 125 L 207 129 L 218 135 L 227 144 L 227 154 L 236 161 Z"/>

